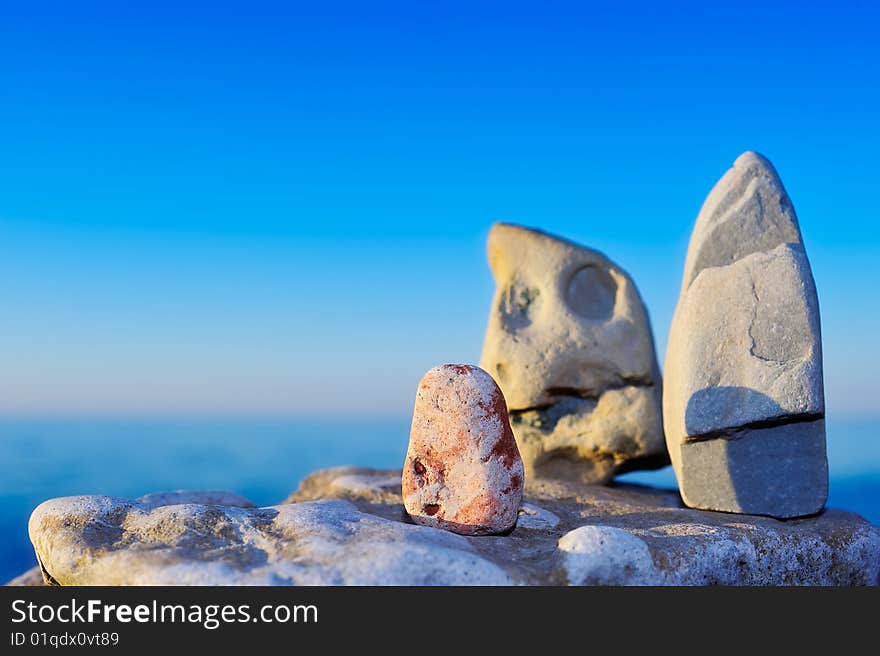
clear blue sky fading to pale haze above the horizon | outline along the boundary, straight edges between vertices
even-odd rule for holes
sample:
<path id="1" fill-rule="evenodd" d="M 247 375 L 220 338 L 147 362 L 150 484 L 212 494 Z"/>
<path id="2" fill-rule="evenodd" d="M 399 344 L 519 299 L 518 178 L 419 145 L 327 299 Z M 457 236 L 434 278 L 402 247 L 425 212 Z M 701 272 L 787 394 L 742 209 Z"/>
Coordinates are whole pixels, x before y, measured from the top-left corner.
<path id="1" fill-rule="evenodd" d="M 747 149 L 829 413 L 880 413 L 878 5 L 707 4 L 3 3 L 0 413 L 404 415 L 479 358 L 497 220 L 628 269 L 662 362 Z"/>

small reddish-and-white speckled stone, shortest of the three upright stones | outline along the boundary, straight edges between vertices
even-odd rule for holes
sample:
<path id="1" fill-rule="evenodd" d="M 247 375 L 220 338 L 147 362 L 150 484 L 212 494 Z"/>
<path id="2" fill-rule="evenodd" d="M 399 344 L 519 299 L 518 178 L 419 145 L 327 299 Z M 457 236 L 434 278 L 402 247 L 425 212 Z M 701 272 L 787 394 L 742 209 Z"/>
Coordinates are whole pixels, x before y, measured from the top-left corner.
<path id="1" fill-rule="evenodd" d="M 525 472 L 504 396 L 479 367 L 434 367 L 419 382 L 403 466 L 403 503 L 417 524 L 462 535 L 513 527 Z"/>

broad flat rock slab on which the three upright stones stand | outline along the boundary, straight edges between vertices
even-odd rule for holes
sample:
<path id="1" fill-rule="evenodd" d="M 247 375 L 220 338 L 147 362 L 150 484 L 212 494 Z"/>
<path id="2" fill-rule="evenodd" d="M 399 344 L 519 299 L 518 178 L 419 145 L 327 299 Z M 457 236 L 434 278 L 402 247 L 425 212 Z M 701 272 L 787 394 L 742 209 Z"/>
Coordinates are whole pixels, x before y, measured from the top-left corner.
<path id="1" fill-rule="evenodd" d="M 876 585 L 880 529 L 835 510 L 780 521 L 684 508 L 674 492 L 530 483 L 516 528 L 407 523 L 400 472 L 336 468 L 270 508 L 41 505 L 31 539 L 77 584 Z"/>

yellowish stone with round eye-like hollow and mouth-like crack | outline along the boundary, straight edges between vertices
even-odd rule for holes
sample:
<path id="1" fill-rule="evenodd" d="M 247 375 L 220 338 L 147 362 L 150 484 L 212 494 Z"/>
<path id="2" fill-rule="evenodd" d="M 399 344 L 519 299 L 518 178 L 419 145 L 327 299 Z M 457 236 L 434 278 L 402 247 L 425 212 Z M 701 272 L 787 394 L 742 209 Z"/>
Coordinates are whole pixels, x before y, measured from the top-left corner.
<path id="1" fill-rule="evenodd" d="M 480 366 L 504 392 L 528 478 L 603 483 L 668 462 L 660 375 L 632 279 L 597 251 L 497 224 Z"/>

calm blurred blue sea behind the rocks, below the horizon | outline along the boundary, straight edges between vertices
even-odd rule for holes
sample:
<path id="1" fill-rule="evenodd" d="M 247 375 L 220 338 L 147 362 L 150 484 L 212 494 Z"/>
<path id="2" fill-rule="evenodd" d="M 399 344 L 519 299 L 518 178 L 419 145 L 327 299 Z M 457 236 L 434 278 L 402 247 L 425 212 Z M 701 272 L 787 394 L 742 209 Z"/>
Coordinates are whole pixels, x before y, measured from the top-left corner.
<path id="1" fill-rule="evenodd" d="M 0 420 L 0 582 L 35 564 L 27 520 L 73 494 L 223 489 L 268 505 L 309 472 L 400 467 L 408 421 Z M 880 419 L 829 420 L 829 505 L 880 525 Z M 675 487 L 671 469 L 620 480 Z"/>

